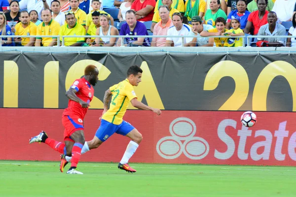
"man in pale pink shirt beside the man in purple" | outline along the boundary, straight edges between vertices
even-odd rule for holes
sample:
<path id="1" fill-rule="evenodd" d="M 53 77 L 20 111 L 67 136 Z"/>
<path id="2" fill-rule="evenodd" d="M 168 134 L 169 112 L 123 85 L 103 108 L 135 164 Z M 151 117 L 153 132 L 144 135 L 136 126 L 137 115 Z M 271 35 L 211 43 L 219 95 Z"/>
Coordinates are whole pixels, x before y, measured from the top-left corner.
<path id="1" fill-rule="evenodd" d="M 172 19 L 170 19 L 170 11 L 167 5 L 159 7 L 160 21 L 155 24 L 153 28 L 153 35 L 167 35 L 171 26 L 173 26 Z M 165 46 L 165 37 L 153 37 L 151 46 Z"/>

